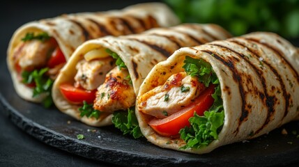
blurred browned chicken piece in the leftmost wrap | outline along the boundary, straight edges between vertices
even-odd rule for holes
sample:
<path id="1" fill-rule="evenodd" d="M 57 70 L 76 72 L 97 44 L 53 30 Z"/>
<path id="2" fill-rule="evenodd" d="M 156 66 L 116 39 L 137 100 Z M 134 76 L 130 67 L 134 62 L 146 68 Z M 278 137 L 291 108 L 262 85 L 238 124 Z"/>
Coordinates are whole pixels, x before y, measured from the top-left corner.
<path id="1" fill-rule="evenodd" d="M 21 42 L 15 49 L 14 58 L 23 70 L 31 71 L 47 64 L 52 51 L 57 43 L 53 40 L 30 40 Z"/>

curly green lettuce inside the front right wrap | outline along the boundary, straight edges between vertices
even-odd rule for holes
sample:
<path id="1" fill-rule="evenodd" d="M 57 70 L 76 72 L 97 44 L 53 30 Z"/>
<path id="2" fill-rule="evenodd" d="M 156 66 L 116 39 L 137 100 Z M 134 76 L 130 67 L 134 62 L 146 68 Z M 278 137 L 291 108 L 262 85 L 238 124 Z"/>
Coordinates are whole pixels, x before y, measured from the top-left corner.
<path id="1" fill-rule="evenodd" d="M 219 80 L 212 66 L 203 59 L 191 58 L 186 56 L 185 65 L 183 68 L 187 74 L 192 77 L 197 77 L 206 87 L 210 84 L 216 84 L 213 105 L 204 112 L 204 116 L 197 115 L 194 112 L 194 117 L 189 119 L 190 127 L 185 127 L 180 130 L 181 138 L 186 145 L 181 149 L 187 148 L 202 148 L 209 145 L 212 141 L 217 140 L 224 123 L 224 109 L 221 98 L 221 89 Z"/>

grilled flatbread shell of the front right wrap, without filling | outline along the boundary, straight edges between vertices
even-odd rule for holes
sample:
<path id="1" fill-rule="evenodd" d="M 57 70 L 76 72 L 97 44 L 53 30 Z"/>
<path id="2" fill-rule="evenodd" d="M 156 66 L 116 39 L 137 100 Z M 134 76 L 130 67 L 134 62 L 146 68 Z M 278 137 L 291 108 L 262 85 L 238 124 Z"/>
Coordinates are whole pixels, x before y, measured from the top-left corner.
<path id="1" fill-rule="evenodd" d="M 201 148 L 180 149 L 186 145 L 185 141 L 155 132 L 148 125 L 153 117 L 140 112 L 141 108 L 138 107 L 142 95 L 163 85 L 171 74 L 185 71 L 183 62 L 186 56 L 208 62 L 221 87 L 224 123 L 218 138 Z M 165 74 L 160 75 L 163 72 Z M 141 132 L 148 141 L 162 148 L 195 154 L 256 138 L 298 116 L 298 72 L 299 54 L 296 47 L 274 33 L 256 32 L 178 49 L 167 61 L 155 65 L 140 87 L 136 115 Z"/>

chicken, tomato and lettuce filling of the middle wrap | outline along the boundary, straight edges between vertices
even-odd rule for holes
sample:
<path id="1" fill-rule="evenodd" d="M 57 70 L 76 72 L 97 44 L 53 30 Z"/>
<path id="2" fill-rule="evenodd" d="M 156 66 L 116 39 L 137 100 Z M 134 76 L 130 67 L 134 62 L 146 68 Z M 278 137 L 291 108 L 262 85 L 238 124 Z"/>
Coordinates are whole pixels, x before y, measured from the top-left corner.
<path id="1" fill-rule="evenodd" d="M 92 49 L 76 70 L 73 82 L 61 84 L 59 89 L 68 102 L 81 106 L 80 116 L 98 119 L 113 113 L 112 122 L 124 134 L 142 136 L 135 116 L 136 95 L 121 58 L 104 47 Z"/>

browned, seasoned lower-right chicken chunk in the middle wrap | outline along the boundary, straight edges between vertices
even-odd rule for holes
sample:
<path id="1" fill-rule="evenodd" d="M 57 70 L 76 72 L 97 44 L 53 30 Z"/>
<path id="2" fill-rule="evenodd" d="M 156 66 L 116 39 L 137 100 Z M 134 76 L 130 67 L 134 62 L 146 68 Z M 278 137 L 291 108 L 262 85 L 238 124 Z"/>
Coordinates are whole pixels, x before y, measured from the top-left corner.
<path id="1" fill-rule="evenodd" d="M 127 79 L 129 72 L 114 67 L 107 75 L 104 84 L 98 87 L 93 109 L 112 113 L 135 105 L 134 88 Z"/>

